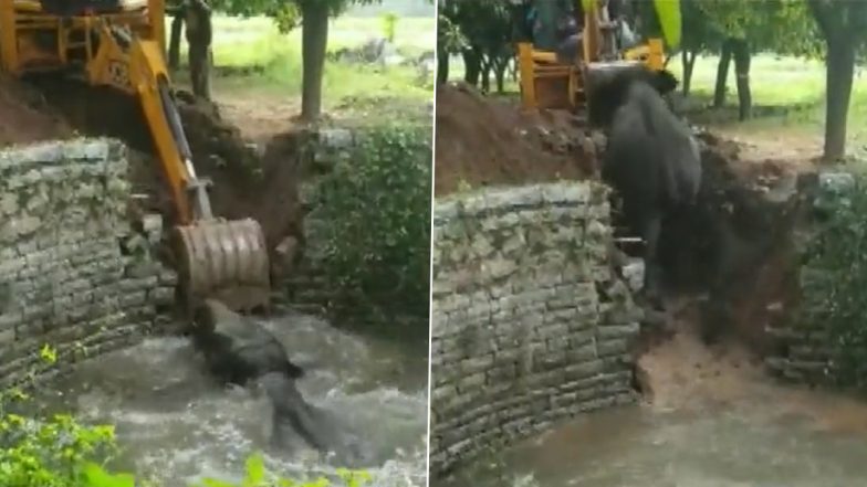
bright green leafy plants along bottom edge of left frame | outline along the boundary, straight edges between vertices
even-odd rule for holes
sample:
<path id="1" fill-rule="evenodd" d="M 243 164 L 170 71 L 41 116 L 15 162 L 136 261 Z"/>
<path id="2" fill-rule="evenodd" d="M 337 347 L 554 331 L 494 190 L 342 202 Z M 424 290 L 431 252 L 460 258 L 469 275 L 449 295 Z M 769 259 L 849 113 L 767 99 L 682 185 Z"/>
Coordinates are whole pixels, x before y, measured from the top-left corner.
<path id="1" fill-rule="evenodd" d="M 39 354 L 49 364 L 56 361 L 56 352 L 50 346 L 44 346 Z M 18 388 L 0 391 L 0 486 L 159 487 L 106 468 L 119 452 L 114 426 L 82 425 L 71 414 L 30 417 L 11 412 L 35 411 L 31 401 Z M 240 484 L 206 478 L 192 487 L 362 487 L 370 479 L 366 472 L 346 469 L 337 470 L 337 476 L 341 484 L 336 485 L 326 478 L 300 481 L 280 477 L 265 469 L 257 453 L 248 458 L 247 475 Z"/>

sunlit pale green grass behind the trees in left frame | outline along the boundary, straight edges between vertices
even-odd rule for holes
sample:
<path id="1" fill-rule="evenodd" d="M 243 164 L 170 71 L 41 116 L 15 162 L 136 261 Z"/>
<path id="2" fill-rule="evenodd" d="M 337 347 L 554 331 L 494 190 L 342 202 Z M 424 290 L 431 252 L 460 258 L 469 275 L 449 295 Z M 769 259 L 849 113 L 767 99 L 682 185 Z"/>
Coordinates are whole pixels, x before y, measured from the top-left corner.
<path id="1" fill-rule="evenodd" d="M 213 19 L 213 59 L 218 75 L 217 93 L 255 92 L 281 97 L 301 96 L 301 30 L 281 34 L 264 17 L 241 19 L 216 15 Z M 332 21 L 328 51 L 357 47 L 367 40 L 383 35 L 380 18 L 343 17 Z M 404 56 L 417 56 L 436 45 L 433 18 L 401 18 L 396 24 L 395 44 Z M 182 62 L 186 43 L 181 47 Z M 228 74 L 227 74 L 228 73 Z M 243 74 L 238 74 L 243 73 Z M 178 81 L 184 83 L 181 73 Z M 430 75 L 432 80 L 432 73 Z M 379 67 L 327 61 L 323 81 L 326 109 L 348 102 L 388 98 L 398 104 L 422 104 L 432 99 L 432 84 L 419 81 L 410 66 Z"/>

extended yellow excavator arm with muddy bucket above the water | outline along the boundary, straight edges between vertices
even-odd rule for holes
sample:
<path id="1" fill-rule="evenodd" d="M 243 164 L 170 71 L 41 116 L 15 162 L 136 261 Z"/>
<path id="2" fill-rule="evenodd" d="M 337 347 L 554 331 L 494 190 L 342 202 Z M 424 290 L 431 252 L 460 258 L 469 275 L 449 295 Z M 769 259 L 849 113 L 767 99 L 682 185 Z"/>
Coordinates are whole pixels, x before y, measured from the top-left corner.
<path id="1" fill-rule="evenodd" d="M 174 241 L 182 287 L 189 295 L 216 296 L 232 308 L 267 305 L 270 268 L 262 230 L 252 219 L 215 219 L 210 182 L 196 176 L 192 152 L 170 91 L 159 43 L 130 36 L 100 22 L 87 64 L 87 81 L 138 98 L 153 136 L 177 215 Z"/>

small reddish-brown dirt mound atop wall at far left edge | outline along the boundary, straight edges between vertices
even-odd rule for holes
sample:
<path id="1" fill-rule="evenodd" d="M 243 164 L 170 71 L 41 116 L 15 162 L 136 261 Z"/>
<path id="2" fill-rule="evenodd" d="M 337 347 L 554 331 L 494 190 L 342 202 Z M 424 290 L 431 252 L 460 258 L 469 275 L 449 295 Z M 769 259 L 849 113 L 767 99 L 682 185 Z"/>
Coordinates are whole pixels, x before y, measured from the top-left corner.
<path id="1" fill-rule="evenodd" d="M 0 146 L 66 138 L 72 128 L 39 91 L 0 75 Z"/>

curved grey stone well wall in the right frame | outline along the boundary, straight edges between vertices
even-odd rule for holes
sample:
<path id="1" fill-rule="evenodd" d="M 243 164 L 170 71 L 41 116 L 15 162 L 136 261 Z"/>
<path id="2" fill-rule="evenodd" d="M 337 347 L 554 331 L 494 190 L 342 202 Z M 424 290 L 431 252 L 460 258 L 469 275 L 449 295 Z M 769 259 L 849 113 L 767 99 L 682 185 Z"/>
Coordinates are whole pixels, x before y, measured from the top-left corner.
<path id="1" fill-rule="evenodd" d="M 606 193 L 573 181 L 437 202 L 432 477 L 636 399 L 639 316 L 609 264 Z"/>

